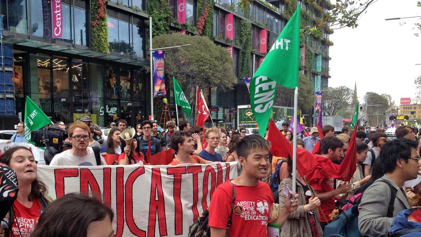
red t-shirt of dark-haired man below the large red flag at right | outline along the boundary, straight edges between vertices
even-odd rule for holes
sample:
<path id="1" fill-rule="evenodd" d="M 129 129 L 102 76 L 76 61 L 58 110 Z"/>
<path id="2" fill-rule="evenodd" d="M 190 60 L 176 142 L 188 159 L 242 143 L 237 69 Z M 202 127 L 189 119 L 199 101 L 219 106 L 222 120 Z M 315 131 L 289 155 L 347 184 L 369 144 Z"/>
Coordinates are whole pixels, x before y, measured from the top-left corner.
<path id="1" fill-rule="evenodd" d="M 319 193 L 327 193 L 334 190 L 334 178 L 324 178 L 324 179 L 316 179 L 315 181 L 311 182 L 310 185 L 313 187 L 314 190 L 318 191 Z M 321 202 L 320 209 L 326 216 L 329 218 L 329 215 L 332 214 L 332 211 L 335 209 L 335 197 L 331 197 Z M 330 219 L 326 220 L 323 215 L 320 215 L 321 222 L 330 221 Z"/>

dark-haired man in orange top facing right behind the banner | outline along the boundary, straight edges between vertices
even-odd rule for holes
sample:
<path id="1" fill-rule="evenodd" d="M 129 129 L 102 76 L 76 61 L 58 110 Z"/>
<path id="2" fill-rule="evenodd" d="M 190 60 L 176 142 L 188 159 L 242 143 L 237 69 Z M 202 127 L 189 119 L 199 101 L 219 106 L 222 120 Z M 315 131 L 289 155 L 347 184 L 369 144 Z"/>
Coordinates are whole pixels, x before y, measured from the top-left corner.
<path id="1" fill-rule="evenodd" d="M 193 145 L 189 131 L 175 131 L 171 136 L 171 147 L 176 152 L 176 156 L 169 165 L 212 163 L 197 155 L 190 155 L 194 151 Z"/>

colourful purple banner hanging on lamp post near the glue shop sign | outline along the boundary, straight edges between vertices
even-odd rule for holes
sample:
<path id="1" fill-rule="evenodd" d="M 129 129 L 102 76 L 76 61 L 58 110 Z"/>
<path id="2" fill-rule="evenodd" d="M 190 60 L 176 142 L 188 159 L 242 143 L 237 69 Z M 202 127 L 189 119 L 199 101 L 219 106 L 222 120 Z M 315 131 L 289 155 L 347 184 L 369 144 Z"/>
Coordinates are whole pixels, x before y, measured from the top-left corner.
<path id="1" fill-rule="evenodd" d="M 155 51 L 153 58 L 153 97 L 167 95 L 165 90 L 164 60 L 165 51 Z"/>

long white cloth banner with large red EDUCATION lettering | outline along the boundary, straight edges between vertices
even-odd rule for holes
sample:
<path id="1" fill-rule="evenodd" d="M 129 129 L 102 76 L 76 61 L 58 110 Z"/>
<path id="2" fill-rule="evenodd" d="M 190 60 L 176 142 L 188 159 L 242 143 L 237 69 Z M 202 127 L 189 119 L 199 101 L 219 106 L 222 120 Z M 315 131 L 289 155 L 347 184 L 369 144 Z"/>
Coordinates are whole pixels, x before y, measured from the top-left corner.
<path id="1" fill-rule="evenodd" d="M 53 199 L 89 194 L 114 212 L 115 236 L 187 236 L 238 162 L 179 166 L 38 166 Z M 70 207 L 75 208 L 75 207 Z"/>

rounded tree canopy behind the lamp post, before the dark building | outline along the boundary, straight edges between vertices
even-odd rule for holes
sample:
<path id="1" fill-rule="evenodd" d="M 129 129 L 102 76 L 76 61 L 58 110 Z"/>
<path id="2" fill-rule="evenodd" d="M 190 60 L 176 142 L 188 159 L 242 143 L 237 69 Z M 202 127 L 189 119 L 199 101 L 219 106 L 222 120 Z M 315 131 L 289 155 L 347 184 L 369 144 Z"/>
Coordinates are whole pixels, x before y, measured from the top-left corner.
<path id="1" fill-rule="evenodd" d="M 183 44 L 191 46 L 166 50 L 167 89 L 173 86 L 172 76 L 175 76 L 183 88 L 189 89 L 192 86 L 217 86 L 221 90 L 228 90 L 235 85 L 237 78 L 232 70 L 234 62 L 230 52 L 208 37 L 173 33 L 153 38 L 154 47 Z"/>

